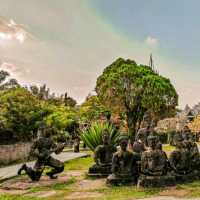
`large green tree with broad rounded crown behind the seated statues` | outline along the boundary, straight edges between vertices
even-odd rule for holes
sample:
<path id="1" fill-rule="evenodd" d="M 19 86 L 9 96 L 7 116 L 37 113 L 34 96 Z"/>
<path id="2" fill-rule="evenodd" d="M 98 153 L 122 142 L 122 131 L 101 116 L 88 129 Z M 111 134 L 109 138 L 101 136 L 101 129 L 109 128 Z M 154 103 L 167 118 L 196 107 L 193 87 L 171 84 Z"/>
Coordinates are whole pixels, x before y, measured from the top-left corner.
<path id="1" fill-rule="evenodd" d="M 157 121 L 175 114 L 178 104 L 169 79 L 149 66 L 122 58 L 104 69 L 97 79 L 96 92 L 103 104 L 126 114 L 133 140 L 146 113 Z"/>

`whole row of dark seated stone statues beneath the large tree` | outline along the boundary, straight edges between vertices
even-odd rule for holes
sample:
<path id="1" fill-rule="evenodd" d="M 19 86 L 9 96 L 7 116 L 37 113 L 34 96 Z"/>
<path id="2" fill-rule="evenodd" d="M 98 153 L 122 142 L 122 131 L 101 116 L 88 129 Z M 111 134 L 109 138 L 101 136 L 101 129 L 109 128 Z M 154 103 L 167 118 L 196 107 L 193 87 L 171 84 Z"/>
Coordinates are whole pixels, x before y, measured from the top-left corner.
<path id="1" fill-rule="evenodd" d="M 200 177 L 200 154 L 190 134 L 187 131 L 176 134 L 176 148 L 168 158 L 158 136 L 153 133 L 147 137 L 148 147 L 138 137 L 132 152 L 127 150 L 126 135 L 120 137 L 117 151 L 104 131 L 103 145 L 96 148 L 96 164 L 89 168 L 88 175 L 107 177 L 107 183 L 111 185 L 137 184 L 143 187 L 172 186 L 197 180 Z"/>

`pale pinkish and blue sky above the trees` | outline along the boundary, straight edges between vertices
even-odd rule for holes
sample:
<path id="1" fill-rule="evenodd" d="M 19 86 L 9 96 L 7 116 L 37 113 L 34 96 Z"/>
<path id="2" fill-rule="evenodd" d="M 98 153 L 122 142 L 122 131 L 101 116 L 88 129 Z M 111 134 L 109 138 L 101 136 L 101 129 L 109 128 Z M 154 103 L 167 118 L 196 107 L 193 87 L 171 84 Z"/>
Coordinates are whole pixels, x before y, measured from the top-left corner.
<path id="1" fill-rule="evenodd" d="M 0 0 L 0 68 L 79 103 L 118 57 L 170 78 L 179 107 L 200 101 L 199 0 Z"/>

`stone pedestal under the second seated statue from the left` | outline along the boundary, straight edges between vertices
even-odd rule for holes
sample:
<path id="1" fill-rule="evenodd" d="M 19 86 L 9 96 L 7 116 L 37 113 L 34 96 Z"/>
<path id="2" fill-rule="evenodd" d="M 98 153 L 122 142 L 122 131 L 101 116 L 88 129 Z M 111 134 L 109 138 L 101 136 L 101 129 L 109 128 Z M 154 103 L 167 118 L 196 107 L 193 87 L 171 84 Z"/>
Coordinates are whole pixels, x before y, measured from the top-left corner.
<path id="1" fill-rule="evenodd" d="M 108 176 L 106 183 L 108 185 L 136 185 L 137 179 L 133 176 L 116 176 L 115 174 L 111 174 Z"/>

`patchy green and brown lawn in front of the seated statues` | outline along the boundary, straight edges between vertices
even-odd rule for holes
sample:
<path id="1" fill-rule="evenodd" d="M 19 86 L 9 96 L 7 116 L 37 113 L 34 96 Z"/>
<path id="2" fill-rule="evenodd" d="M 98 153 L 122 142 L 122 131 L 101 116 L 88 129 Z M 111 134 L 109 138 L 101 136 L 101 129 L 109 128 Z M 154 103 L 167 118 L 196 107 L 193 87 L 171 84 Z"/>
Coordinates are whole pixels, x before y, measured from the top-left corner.
<path id="1" fill-rule="evenodd" d="M 168 152 L 173 150 L 173 147 L 165 146 L 164 149 Z M 132 200 L 151 196 L 159 197 L 160 195 L 179 198 L 200 197 L 200 181 L 170 188 L 138 189 L 136 186 L 107 186 L 105 179 L 91 179 L 86 176 L 86 172 L 92 164 L 92 157 L 66 162 L 64 174 L 72 175 L 77 172 L 78 176 L 72 175 L 65 182 L 54 183 L 50 186 L 33 186 L 24 194 L 13 194 L 12 191 L 0 194 L 0 200 Z M 52 195 L 48 195 L 51 193 Z M 41 198 L 41 195 L 45 194 L 47 194 L 46 197 Z"/>

